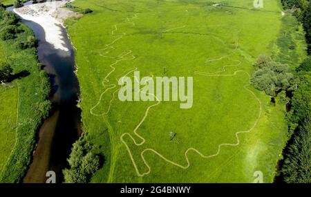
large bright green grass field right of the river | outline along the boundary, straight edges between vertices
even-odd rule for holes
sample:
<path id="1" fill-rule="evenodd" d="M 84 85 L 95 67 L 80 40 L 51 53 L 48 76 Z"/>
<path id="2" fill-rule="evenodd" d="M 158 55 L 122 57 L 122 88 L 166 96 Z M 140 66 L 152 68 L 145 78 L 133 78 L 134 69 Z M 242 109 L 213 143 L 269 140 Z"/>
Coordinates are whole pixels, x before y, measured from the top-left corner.
<path id="1" fill-rule="evenodd" d="M 249 76 L 261 54 L 288 57 L 296 66 L 305 56 L 301 28 L 281 15 L 277 0 L 258 10 L 249 0 L 214 2 L 222 6 L 73 3 L 94 11 L 67 21 L 77 49 L 83 127 L 106 158 L 92 182 L 253 182 L 254 171 L 273 181 L 286 141 L 284 107 L 249 86 Z M 194 105 L 120 102 L 117 79 L 135 69 L 141 77 L 194 77 Z"/>

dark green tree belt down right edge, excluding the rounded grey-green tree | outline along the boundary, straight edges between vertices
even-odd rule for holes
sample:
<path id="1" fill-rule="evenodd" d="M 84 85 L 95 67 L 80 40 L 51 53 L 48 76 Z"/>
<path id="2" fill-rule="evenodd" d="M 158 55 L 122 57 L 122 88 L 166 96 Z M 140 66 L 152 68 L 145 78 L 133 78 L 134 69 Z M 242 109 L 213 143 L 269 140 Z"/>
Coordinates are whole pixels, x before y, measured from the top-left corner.
<path id="1" fill-rule="evenodd" d="M 285 9 L 294 10 L 301 21 L 311 54 L 311 1 L 282 0 Z M 284 153 L 281 173 L 284 182 L 311 182 L 311 57 L 296 68 L 300 82 L 292 94 L 288 115 L 288 127 L 291 140 Z"/>

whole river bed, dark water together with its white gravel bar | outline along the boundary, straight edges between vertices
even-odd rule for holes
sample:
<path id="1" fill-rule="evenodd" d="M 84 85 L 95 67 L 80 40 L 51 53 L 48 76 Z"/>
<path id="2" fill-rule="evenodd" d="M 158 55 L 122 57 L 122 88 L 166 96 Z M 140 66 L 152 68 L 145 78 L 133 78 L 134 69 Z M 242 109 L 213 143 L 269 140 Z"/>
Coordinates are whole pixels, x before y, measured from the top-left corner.
<path id="1" fill-rule="evenodd" d="M 32 162 L 23 182 L 45 182 L 50 170 L 55 171 L 57 182 L 62 182 L 66 158 L 81 130 L 74 50 L 63 26 L 66 17 L 76 14 L 63 8 L 66 2 L 48 1 L 13 9 L 21 22 L 35 32 L 38 59 L 50 77 L 53 103 L 50 117 L 37 133 Z"/>

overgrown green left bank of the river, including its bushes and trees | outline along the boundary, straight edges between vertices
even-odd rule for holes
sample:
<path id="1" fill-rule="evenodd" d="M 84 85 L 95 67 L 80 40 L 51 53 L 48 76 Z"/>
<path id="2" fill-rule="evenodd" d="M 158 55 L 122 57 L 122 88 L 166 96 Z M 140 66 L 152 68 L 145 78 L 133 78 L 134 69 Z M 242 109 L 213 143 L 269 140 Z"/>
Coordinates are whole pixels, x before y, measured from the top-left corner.
<path id="1" fill-rule="evenodd" d="M 10 145 L 6 145 L 6 151 L 10 151 L 10 155 L 1 158 L 4 167 L 0 172 L 0 182 L 21 182 L 30 164 L 36 133 L 50 111 L 51 102 L 48 100 L 50 81 L 38 62 L 32 30 L 17 21 L 16 16 L 10 11 L 0 8 L 0 15 L 3 14 L 8 18 L 0 19 L 1 30 L 10 26 L 18 28 L 19 31 L 10 32 L 10 39 L 2 35 L 0 41 L 2 62 L 10 65 L 13 71 L 12 78 L 6 82 L 8 84 L 1 84 L 1 86 L 8 90 L 9 88 L 17 90 L 15 95 L 17 103 L 14 102 L 13 96 L 8 100 L 10 106 L 16 107 L 16 124 L 11 120 L 8 120 L 8 123 L 1 120 L 2 124 L 11 126 L 10 133 L 15 135 L 15 138 Z M 6 93 L 1 91 L 1 95 L 3 94 Z M 6 105 L 6 102 L 1 102 L 2 112 Z M 1 144 L 5 142 L 4 140 Z M 2 152 L 1 156 L 3 156 Z"/>

